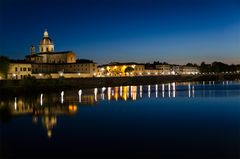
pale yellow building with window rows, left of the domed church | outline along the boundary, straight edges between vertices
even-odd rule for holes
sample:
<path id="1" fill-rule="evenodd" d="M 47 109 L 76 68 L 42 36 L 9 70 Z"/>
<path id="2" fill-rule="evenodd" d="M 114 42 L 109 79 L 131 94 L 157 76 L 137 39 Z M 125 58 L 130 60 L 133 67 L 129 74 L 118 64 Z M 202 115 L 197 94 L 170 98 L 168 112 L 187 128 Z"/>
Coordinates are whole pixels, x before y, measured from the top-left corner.
<path id="1" fill-rule="evenodd" d="M 8 79 L 24 79 L 32 76 L 32 65 L 24 60 L 11 60 L 9 63 Z"/>

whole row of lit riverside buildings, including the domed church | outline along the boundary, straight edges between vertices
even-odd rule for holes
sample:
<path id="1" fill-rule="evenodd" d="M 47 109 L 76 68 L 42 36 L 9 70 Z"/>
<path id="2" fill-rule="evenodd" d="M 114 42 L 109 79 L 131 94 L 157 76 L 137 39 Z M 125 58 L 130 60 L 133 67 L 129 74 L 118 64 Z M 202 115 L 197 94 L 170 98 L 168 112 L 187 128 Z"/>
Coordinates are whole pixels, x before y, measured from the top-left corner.
<path id="1" fill-rule="evenodd" d="M 77 60 L 72 51 L 54 51 L 54 43 L 44 32 L 40 41 L 39 52 L 31 46 L 30 54 L 24 60 L 11 60 L 9 64 L 8 79 L 23 79 L 33 76 L 37 79 L 46 78 L 79 78 L 79 77 L 111 77 L 111 76 L 156 76 L 177 74 L 198 74 L 197 67 L 143 63 L 112 62 L 97 65 L 91 60 Z M 1 77 L 3 79 L 3 77 Z"/>

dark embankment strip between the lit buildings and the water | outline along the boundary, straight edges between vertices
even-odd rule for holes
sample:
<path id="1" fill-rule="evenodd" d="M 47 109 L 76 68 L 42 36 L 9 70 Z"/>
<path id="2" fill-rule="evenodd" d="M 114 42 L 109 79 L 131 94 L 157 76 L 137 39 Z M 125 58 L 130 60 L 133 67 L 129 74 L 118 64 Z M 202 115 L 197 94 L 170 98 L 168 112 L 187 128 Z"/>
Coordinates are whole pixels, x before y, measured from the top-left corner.
<path id="1" fill-rule="evenodd" d="M 59 78 L 59 79 L 24 79 L 0 80 L 0 94 L 34 93 L 58 90 L 112 87 L 124 85 L 148 85 L 170 82 L 224 81 L 240 79 L 240 74 L 211 75 L 165 75 L 137 77 L 94 77 L 94 78 Z"/>

